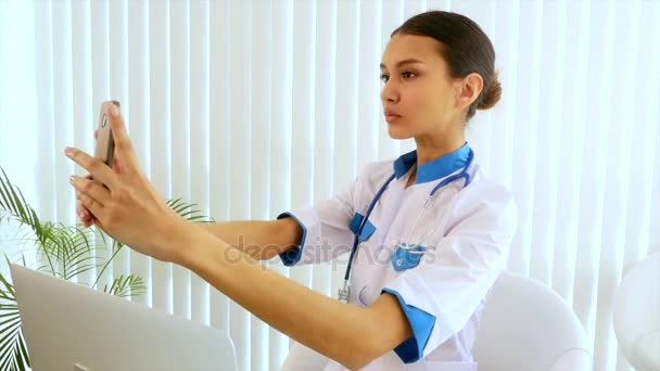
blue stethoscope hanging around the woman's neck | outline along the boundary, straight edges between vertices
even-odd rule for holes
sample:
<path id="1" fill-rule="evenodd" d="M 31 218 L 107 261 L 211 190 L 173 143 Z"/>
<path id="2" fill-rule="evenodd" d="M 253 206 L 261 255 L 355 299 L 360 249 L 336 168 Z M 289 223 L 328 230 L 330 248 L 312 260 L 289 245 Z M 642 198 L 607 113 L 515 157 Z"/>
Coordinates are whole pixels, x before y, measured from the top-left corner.
<path id="1" fill-rule="evenodd" d="M 405 240 L 405 241 L 410 241 L 410 238 L 415 233 L 415 230 L 417 229 L 419 221 L 421 220 L 422 216 L 424 215 L 424 212 L 427 210 L 427 208 L 429 208 L 429 206 L 431 206 L 431 204 L 433 203 L 433 200 L 435 200 L 435 192 L 437 192 L 437 190 L 440 190 L 441 188 L 449 184 L 450 182 L 453 182 L 455 180 L 459 180 L 459 179 L 464 179 L 462 188 L 466 188 L 466 187 L 468 187 L 468 184 L 470 184 L 470 181 L 472 179 L 470 177 L 470 174 L 468 172 L 468 169 L 470 168 L 470 165 L 472 164 L 473 157 L 474 157 L 474 153 L 470 149 L 470 152 L 468 154 L 468 162 L 467 162 L 466 166 L 462 168 L 462 171 L 443 179 L 441 182 L 439 182 L 433 188 L 431 193 L 429 193 L 429 197 L 424 202 L 423 207 L 419 212 L 419 215 L 417 216 L 417 220 L 415 220 L 415 225 L 412 225 L 412 228 L 408 232 L 407 240 Z M 376 207 L 376 204 L 378 203 L 380 197 L 385 192 L 385 189 L 388 188 L 388 186 L 390 186 L 392 180 L 394 180 L 394 178 L 396 178 L 395 174 L 390 176 L 390 178 L 388 178 L 388 180 L 385 180 L 385 183 L 380 188 L 380 190 L 378 190 L 378 192 L 373 196 L 373 200 L 371 200 L 371 203 L 369 204 L 369 207 L 367 208 L 367 213 L 365 213 L 365 216 L 361 219 L 359 227 L 357 228 L 357 231 L 355 232 L 355 239 L 353 240 L 353 248 L 351 250 L 351 256 L 348 257 L 348 265 L 346 266 L 346 273 L 344 274 L 344 286 L 342 289 L 340 289 L 338 292 L 338 298 L 340 302 L 348 303 L 348 294 L 351 293 L 351 283 L 350 283 L 351 268 L 353 266 L 353 257 L 355 256 L 355 253 L 357 252 L 357 246 L 359 245 L 359 242 L 360 242 L 359 236 L 363 234 L 363 230 L 365 229 L 365 226 L 367 225 L 367 222 L 369 220 L 369 216 L 371 215 L 373 207 Z M 437 227 L 435 227 L 435 228 L 437 228 Z M 432 229 L 430 232 L 424 233 L 424 235 L 422 235 L 420 238 L 420 241 L 418 243 L 398 244 L 398 250 L 397 250 L 395 256 L 393 256 L 393 264 L 395 265 L 395 269 L 396 269 L 397 264 L 399 265 L 399 267 L 402 267 L 402 269 L 405 269 L 404 261 L 403 261 L 403 255 L 410 254 L 412 256 L 417 256 L 418 258 L 420 258 L 426 253 L 427 248 L 421 246 L 421 243 L 423 242 L 423 240 L 427 236 L 433 234 L 433 232 L 435 231 L 435 228 Z"/>

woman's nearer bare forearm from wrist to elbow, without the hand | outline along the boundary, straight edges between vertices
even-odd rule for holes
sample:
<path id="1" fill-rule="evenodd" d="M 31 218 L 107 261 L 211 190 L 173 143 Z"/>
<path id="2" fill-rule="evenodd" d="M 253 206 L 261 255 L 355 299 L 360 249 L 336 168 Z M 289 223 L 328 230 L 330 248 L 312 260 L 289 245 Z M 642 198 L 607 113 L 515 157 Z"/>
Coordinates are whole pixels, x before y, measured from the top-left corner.
<path id="1" fill-rule="evenodd" d="M 350 369 L 361 368 L 411 336 L 397 299 L 360 308 L 318 294 L 264 268 L 203 230 L 174 233 L 175 263 L 198 273 L 256 317 Z M 173 250 L 175 247 L 172 247 Z"/>

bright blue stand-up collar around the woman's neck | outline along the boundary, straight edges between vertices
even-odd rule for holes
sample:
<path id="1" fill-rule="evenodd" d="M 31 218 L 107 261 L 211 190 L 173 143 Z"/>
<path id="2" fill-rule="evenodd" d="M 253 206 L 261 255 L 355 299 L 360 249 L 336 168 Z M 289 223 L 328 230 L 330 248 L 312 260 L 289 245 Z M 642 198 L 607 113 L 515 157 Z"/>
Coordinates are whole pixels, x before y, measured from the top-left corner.
<path id="1" fill-rule="evenodd" d="M 468 165 L 470 158 L 468 143 L 460 149 L 426 163 L 417 168 L 416 184 L 437 180 Z M 408 152 L 394 161 L 394 175 L 399 179 L 417 163 L 417 151 Z"/>

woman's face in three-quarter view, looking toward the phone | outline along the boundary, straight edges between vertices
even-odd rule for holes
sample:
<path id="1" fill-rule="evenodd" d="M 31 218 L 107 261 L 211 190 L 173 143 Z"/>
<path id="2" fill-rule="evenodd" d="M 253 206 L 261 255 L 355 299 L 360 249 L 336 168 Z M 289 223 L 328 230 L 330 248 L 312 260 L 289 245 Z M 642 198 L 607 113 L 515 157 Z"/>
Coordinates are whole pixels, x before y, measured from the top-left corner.
<path id="1" fill-rule="evenodd" d="M 388 42 L 380 68 L 390 137 L 436 137 L 462 130 L 466 110 L 457 107 L 461 81 L 450 78 L 435 39 L 395 35 Z"/>

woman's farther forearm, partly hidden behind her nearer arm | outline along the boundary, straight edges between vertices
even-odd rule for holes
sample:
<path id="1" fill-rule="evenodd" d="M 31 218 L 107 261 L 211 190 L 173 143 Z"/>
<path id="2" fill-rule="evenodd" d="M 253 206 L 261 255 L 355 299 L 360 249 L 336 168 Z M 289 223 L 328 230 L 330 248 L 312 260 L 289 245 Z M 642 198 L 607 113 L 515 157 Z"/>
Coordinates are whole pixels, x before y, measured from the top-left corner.
<path id="1" fill-rule="evenodd" d="M 303 230 L 293 218 L 194 223 L 256 260 L 297 248 Z"/>

